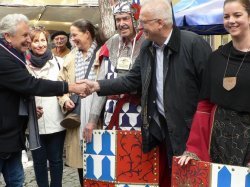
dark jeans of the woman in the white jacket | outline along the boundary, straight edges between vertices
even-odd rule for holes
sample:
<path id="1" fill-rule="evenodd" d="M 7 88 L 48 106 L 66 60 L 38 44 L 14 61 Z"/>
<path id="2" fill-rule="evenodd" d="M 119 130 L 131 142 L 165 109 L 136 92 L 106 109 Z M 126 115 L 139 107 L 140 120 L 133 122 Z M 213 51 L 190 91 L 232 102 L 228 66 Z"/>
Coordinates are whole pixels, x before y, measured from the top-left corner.
<path id="1" fill-rule="evenodd" d="M 32 150 L 36 182 L 39 187 L 61 187 L 63 174 L 63 147 L 66 131 L 40 135 L 41 147 Z M 49 161 L 50 185 L 47 160 Z"/>

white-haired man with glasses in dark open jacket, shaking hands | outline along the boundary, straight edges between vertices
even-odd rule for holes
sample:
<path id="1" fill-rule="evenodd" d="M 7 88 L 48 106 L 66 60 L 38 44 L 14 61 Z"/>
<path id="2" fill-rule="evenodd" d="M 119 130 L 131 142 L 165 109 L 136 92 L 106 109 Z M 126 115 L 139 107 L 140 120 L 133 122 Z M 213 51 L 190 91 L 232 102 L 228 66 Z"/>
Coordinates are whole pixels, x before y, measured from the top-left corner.
<path id="1" fill-rule="evenodd" d="M 160 147 L 160 186 L 167 187 L 172 156 L 185 150 L 211 48 L 202 37 L 173 25 L 166 0 L 145 2 L 139 22 L 147 40 L 130 72 L 85 82 L 99 95 L 142 90 L 143 150 Z"/>

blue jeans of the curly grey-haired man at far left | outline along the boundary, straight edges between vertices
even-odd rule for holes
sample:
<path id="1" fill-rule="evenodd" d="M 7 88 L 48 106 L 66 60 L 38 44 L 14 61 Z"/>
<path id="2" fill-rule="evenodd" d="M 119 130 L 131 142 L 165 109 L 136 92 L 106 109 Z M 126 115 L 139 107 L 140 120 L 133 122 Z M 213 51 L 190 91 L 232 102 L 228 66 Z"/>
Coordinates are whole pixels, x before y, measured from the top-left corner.
<path id="1" fill-rule="evenodd" d="M 11 153 L 6 158 L 0 158 L 0 173 L 3 174 L 6 187 L 22 187 L 24 171 L 21 161 L 22 151 Z"/>

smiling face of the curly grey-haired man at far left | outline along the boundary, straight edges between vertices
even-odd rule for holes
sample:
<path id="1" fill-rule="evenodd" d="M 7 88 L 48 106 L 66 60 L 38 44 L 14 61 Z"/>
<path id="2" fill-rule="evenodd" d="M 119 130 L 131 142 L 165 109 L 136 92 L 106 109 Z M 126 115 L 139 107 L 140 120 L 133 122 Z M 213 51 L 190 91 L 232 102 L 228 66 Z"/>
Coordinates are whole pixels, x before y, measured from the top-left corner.
<path id="1" fill-rule="evenodd" d="M 31 40 L 29 31 L 29 25 L 25 22 L 20 22 L 16 26 L 16 32 L 14 34 L 5 33 L 4 38 L 11 43 L 13 48 L 23 53 L 28 50 L 30 46 Z"/>

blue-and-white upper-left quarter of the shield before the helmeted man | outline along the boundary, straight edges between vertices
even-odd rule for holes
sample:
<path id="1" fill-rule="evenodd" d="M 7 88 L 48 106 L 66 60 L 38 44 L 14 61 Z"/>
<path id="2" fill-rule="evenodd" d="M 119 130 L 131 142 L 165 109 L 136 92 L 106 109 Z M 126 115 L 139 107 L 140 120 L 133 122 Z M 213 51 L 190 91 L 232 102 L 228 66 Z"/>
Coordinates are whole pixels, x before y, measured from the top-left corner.
<path id="1" fill-rule="evenodd" d="M 94 130 L 91 143 L 84 144 L 83 176 L 87 179 L 115 181 L 116 132 Z"/>

